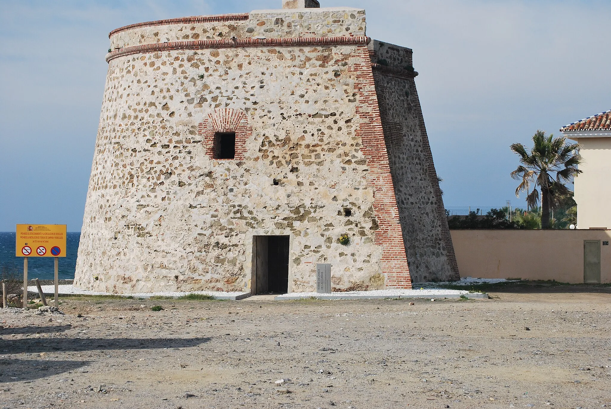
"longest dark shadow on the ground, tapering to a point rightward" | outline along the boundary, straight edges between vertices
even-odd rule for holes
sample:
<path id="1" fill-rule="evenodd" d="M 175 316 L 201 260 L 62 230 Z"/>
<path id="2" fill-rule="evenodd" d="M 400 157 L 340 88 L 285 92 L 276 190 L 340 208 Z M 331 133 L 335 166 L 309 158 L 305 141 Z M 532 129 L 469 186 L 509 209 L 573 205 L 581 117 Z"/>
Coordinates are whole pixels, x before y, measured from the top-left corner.
<path id="1" fill-rule="evenodd" d="M 79 352 L 92 350 L 189 348 L 210 338 L 46 338 L 0 340 L 2 353 Z"/>

